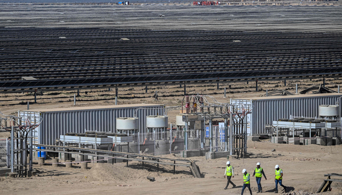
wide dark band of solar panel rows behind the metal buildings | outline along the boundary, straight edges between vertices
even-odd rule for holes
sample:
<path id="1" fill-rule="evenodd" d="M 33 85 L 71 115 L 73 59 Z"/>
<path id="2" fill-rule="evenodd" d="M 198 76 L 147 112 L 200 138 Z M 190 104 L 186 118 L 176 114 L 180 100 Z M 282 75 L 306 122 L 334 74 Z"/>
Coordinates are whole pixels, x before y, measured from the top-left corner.
<path id="1" fill-rule="evenodd" d="M 338 32 L 0 28 L 0 35 L 6 93 L 342 74 Z"/>

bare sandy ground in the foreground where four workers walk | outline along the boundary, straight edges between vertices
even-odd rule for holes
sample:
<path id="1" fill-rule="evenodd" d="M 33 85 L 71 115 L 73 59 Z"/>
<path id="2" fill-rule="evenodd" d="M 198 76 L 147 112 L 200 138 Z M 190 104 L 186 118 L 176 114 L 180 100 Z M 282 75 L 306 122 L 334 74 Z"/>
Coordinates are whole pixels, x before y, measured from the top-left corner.
<path id="1" fill-rule="evenodd" d="M 274 194 L 274 166 L 283 169 L 283 184 L 291 191 L 303 190 L 314 193 L 321 185 L 324 174 L 342 174 L 342 145 L 339 146 L 299 146 L 273 144 L 266 142 L 248 142 L 249 158 L 229 159 L 235 168 L 233 182 L 235 189 L 229 186 L 223 190 L 226 179 L 223 178 L 227 158 L 206 160 L 205 157 L 192 157 L 198 160 L 204 178 L 194 178 L 187 168 L 176 167 L 177 174 L 171 173 L 172 167 L 165 167 L 164 172 L 156 173 L 153 169 L 142 170 L 141 163 L 130 162 L 115 165 L 96 164 L 91 169 L 81 170 L 74 166 L 52 168 L 51 166 L 35 169 L 41 171 L 38 176 L 29 178 L 5 179 L 0 181 L 1 195 L 84 195 L 84 194 L 203 194 L 203 195 L 237 195 L 242 188 L 242 169 L 253 173 L 256 162 L 264 168 L 268 180 L 261 180 L 264 194 Z M 255 148 L 254 148 L 255 147 Z M 276 152 L 271 152 L 276 149 Z M 281 154 L 279 156 L 278 154 Z M 168 157 L 172 157 L 168 155 Z M 169 171 L 169 173 L 167 173 Z M 146 176 L 155 177 L 154 182 Z M 122 186 L 120 186 L 122 185 Z M 256 192 L 255 178 L 251 179 L 252 191 Z M 279 188 L 279 193 L 281 192 Z M 245 194 L 249 194 L 245 192 Z M 333 184 L 332 191 L 324 195 L 341 195 L 342 185 Z"/>

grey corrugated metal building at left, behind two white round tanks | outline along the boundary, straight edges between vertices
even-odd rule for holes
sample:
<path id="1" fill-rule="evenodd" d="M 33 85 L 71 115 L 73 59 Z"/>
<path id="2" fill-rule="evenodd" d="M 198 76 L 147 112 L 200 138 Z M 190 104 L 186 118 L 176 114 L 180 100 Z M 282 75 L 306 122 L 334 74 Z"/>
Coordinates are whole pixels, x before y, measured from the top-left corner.
<path id="1" fill-rule="evenodd" d="M 74 107 L 19 111 L 20 116 L 40 116 L 42 123 L 35 129 L 35 143 L 55 145 L 56 138 L 67 132 L 85 133 L 86 131 L 115 132 L 116 117 L 134 117 L 139 109 L 139 132 L 146 131 L 146 116 L 164 115 L 165 105 L 128 104 L 113 106 Z"/>

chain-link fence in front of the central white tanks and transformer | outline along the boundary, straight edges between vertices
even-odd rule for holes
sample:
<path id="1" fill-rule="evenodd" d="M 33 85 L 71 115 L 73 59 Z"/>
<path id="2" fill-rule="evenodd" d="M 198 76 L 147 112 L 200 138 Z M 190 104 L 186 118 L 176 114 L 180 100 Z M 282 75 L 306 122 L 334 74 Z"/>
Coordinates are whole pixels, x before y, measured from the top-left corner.
<path id="1" fill-rule="evenodd" d="M 177 130 L 178 129 L 178 130 Z M 225 150 L 224 127 L 213 126 L 213 151 Z M 186 139 L 188 137 L 188 139 Z M 188 141 L 188 144 L 186 143 Z M 115 151 L 166 155 L 171 153 L 180 153 L 186 150 L 210 150 L 209 127 L 205 131 L 189 130 L 186 132 L 183 127 L 178 128 L 156 128 L 149 129 L 144 134 L 134 134 L 133 142 L 114 143 Z"/>

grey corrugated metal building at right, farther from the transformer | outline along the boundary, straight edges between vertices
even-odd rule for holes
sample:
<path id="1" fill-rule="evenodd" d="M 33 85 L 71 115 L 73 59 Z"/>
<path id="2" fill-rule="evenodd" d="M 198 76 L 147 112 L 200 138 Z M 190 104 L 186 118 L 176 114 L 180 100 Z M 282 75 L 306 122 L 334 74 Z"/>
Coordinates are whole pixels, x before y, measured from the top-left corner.
<path id="1" fill-rule="evenodd" d="M 265 129 L 266 124 L 279 118 L 318 117 L 319 105 L 335 105 L 342 94 L 310 94 L 296 96 L 270 96 L 256 98 L 230 99 L 231 104 L 240 103 L 245 107 L 252 105 L 252 111 L 247 115 L 247 132 L 250 135 L 270 133 Z M 341 98 L 339 100 L 341 105 Z M 340 116 L 341 116 L 341 106 Z"/>

